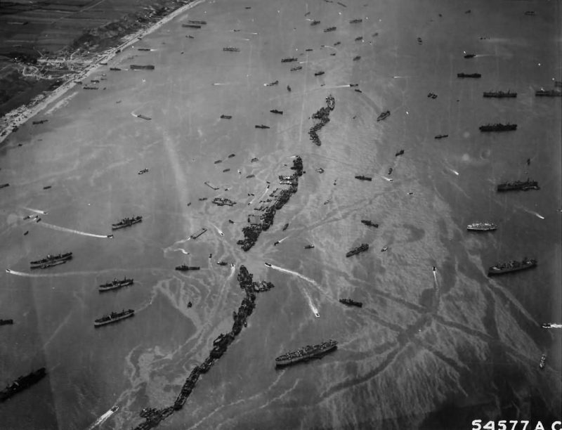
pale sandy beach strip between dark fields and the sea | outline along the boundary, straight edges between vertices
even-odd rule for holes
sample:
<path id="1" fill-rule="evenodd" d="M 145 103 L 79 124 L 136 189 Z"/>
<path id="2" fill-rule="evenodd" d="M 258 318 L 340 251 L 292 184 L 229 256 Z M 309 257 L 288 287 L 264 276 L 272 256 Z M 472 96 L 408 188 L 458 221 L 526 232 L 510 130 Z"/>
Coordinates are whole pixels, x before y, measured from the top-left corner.
<path id="1" fill-rule="evenodd" d="M 98 53 L 91 59 L 90 65 L 86 66 L 84 70 L 81 70 L 81 72 L 74 74 L 72 77 L 69 77 L 56 89 L 46 93 L 43 98 L 40 98 L 39 100 L 32 100 L 30 101 L 30 103 L 21 105 L 20 107 L 16 107 L 15 109 L 11 110 L 11 112 L 8 112 L 6 115 L 4 115 L 3 118 L 0 119 L 0 145 L 1 143 L 4 143 L 6 138 L 8 138 L 11 133 L 17 131 L 19 126 L 25 124 L 29 119 L 32 119 L 37 114 L 39 114 L 39 112 L 45 110 L 49 105 L 51 105 L 51 103 L 55 103 L 59 98 L 63 97 L 65 93 L 67 93 L 67 91 L 70 91 L 74 88 L 74 86 L 77 86 L 76 81 L 80 81 L 86 77 L 89 77 L 90 74 L 96 72 L 96 70 L 98 70 L 100 66 L 104 65 L 103 63 L 107 63 L 108 61 L 112 60 L 112 58 L 115 58 L 115 55 L 118 53 L 118 51 L 123 51 L 132 44 L 136 43 L 136 41 L 138 41 L 139 39 L 142 39 L 143 37 L 148 36 L 148 34 L 155 32 L 160 27 L 162 27 L 162 25 L 170 22 L 178 15 L 181 15 L 185 11 L 188 11 L 190 8 L 194 8 L 195 6 L 204 3 L 204 1 L 206 0 L 193 0 L 191 3 L 177 8 L 175 11 L 171 11 L 168 15 L 164 16 L 164 18 L 155 22 L 153 25 L 150 25 L 150 27 L 137 30 L 136 32 L 133 32 L 128 36 L 123 37 L 121 44 L 107 49 L 106 51 L 103 51 L 103 53 Z"/>

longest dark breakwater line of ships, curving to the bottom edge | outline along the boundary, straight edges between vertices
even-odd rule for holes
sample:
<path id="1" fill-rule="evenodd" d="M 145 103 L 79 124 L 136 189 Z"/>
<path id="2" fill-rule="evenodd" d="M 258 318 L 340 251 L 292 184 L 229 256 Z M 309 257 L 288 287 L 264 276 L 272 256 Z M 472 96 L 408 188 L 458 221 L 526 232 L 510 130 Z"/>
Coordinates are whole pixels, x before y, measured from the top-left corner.
<path id="1" fill-rule="evenodd" d="M 144 422 L 138 424 L 135 430 L 148 430 L 153 426 L 156 426 L 163 419 L 172 415 L 176 410 L 181 410 L 185 402 L 188 400 L 197 381 L 199 381 L 202 374 L 209 372 L 211 367 L 214 365 L 218 358 L 221 358 L 230 344 L 233 343 L 234 339 L 242 331 L 242 327 L 247 325 L 247 319 L 249 315 L 256 308 L 256 292 L 265 292 L 268 289 L 273 288 L 271 282 L 254 282 L 254 275 L 248 272 L 245 266 L 240 266 L 240 271 L 238 273 L 238 283 L 240 288 L 244 290 L 244 298 L 242 303 L 238 307 L 237 311 L 234 311 L 234 323 L 233 328 L 227 334 L 219 334 L 218 337 L 213 341 L 213 346 L 209 352 L 209 356 L 201 363 L 193 368 L 189 376 L 185 379 L 181 391 L 178 393 L 174 405 L 167 406 L 166 408 L 156 409 L 156 408 L 144 408 L 141 410 L 141 417 L 145 419 Z M 326 351 L 327 352 L 327 351 Z"/>

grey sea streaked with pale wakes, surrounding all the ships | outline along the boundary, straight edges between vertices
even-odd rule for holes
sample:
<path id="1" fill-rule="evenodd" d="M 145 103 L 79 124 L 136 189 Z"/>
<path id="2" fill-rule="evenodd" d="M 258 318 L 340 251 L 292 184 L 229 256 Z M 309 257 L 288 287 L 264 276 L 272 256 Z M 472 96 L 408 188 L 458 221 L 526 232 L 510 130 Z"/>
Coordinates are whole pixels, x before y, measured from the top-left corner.
<path id="1" fill-rule="evenodd" d="M 100 69 L 100 89 L 71 90 L 37 116 L 48 122 L 8 138 L 0 259 L 14 273 L 1 275 L 0 313 L 15 325 L 1 330 L 1 382 L 41 366 L 48 377 L 0 405 L 3 428 L 88 428 L 112 405 L 119 411 L 100 428 L 129 428 L 142 408 L 174 403 L 232 326 L 242 264 L 275 288 L 259 294 L 248 326 L 162 429 L 464 429 L 473 419 L 559 414 L 561 332 L 540 323 L 562 320 L 561 103 L 534 96 L 560 80 L 559 2 L 344 3 L 196 6 Z M 530 9 L 537 15 L 523 14 Z M 207 25 L 181 27 L 188 19 Z M 290 56 L 302 70 L 280 62 Z M 155 70 L 125 70 L 131 64 Z M 354 83 L 361 93 L 346 86 Z M 482 98 L 496 89 L 518 97 Z M 336 106 L 316 146 L 310 117 L 330 93 Z M 480 133 L 488 122 L 518 129 Z M 440 133 L 449 136 L 434 139 Z M 298 192 L 242 252 L 248 214 L 282 186 L 277 175 L 292 173 L 297 154 L 306 170 Z M 528 176 L 539 191 L 495 192 Z M 214 197 L 237 204 L 217 207 Z M 22 221 L 32 209 L 46 212 L 39 223 Z M 111 232 L 133 215 L 143 222 Z M 473 221 L 499 229 L 469 234 Z M 368 252 L 346 259 L 362 242 Z M 72 261 L 30 272 L 30 260 L 65 251 Z M 538 267 L 485 275 L 523 256 Z M 181 263 L 202 270 L 174 271 Z M 98 293 L 125 275 L 134 285 Z M 363 307 L 341 305 L 344 297 Z M 122 308 L 136 315 L 94 329 Z M 275 357 L 326 339 L 337 351 L 275 370 Z"/>

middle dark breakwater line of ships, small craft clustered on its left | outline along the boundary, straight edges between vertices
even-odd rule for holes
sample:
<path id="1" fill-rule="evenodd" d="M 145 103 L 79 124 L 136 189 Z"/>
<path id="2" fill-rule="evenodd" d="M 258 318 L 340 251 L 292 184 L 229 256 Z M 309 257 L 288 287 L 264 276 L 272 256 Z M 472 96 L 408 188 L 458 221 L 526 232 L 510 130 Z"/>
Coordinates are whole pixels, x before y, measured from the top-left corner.
<path id="1" fill-rule="evenodd" d="M 303 160 L 301 157 L 296 157 L 293 160 L 292 170 L 295 171 L 291 176 L 283 177 L 283 183 L 289 184 L 288 189 L 276 188 L 273 193 L 270 194 L 270 199 L 273 204 L 263 209 L 263 214 L 261 216 L 248 216 L 249 226 L 242 228 L 242 233 L 244 234 L 244 239 L 238 240 L 236 243 L 247 251 L 257 242 L 258 237 L 262 231 L 268 230 L 273 224 L 273 217 L 275 212 L 283 207 L 285 203 L 289 201 L 292 194 L 296 193 L 299 188 L 299 176 L 303 174 Z"/>

